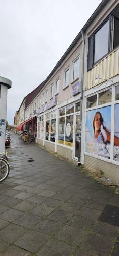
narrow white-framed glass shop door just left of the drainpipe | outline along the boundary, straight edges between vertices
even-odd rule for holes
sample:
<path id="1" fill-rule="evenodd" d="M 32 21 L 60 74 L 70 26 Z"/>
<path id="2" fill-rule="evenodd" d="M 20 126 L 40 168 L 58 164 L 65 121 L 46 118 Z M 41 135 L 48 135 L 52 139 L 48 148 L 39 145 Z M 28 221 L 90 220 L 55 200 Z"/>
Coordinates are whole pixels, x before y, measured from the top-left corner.
<path id="1" fill-rule="evenodd" d="M 74 131 L 74 158 L 78 159 L 79 155 L 79 121 L 80 115 L 75 115 L 75 131 Z"/>

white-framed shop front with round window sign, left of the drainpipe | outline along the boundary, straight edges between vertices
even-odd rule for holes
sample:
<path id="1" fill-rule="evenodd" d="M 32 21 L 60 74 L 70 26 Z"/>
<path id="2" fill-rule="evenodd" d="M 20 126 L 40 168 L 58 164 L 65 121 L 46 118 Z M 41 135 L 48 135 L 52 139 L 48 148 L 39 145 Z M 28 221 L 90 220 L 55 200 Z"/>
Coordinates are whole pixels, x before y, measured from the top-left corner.
<path id="1" fill-rule="evenodd" d="M 69 159 L 78 160 L 80 102 L 38 116 L 37 143 Z"/>

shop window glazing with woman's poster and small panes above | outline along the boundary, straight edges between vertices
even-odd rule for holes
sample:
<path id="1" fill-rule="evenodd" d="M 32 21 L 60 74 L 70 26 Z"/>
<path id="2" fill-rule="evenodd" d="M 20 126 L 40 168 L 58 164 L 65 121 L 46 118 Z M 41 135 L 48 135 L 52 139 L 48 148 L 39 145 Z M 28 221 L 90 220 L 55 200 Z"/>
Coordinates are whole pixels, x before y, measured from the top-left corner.
<path id="1" fill-rule="evenodd" d="M 115 86 L 115 101 L 111 102 L 112 90 L 96 94 L 97 104 L 86 110 L 85 153 L 91 153 L 119 162 L 119 86 Z M 109 95 L 108 95 L 109 94 Z M 114 90 L 113 90 L 114 94 Z M 101 102 L 100 98 L 102 96 Z M 87 98 L 87 101 L 90 97 Z M 108 103 L 109 102 L 109 103 Z M 101 108 L 100 105 L 101 104 Z M 103 105 L 102 105 L 103 104 Z M 106 104 L 106 105 L 105 105 Z M 113 106 L 114 104 L 114 113 Z M 113 152 L 111 151 L 111 118 L 114 114 Z M 112 119 L 113 120 L 113 119 Z"/>

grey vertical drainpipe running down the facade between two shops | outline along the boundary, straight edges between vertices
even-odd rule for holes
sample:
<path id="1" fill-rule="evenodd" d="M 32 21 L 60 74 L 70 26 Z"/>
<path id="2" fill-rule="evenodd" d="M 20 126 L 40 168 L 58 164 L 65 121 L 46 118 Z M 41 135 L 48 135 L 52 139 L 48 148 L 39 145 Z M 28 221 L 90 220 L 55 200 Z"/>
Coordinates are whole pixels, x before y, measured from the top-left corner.
<path id="1" fill-rule="evenodd" d="M 83 102 L 83 80 L 84 80 L 84 32 L 82 34 L 82 74 L 81 74 L 81 94 L 80 94 L 80 121 L 79 121 L 79 151 L 78 151 L 78 166 L 81 165 L 81 123 L 82 123 L 82 102 Z"/>

